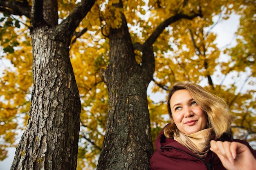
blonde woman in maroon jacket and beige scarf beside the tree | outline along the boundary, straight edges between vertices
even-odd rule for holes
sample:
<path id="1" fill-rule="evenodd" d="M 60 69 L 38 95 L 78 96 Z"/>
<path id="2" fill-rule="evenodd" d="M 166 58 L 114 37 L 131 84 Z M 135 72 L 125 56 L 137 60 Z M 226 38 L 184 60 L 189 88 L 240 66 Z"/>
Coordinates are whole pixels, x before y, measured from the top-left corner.
<path id="1" fill-rule="evenodd" d="M 256 157 L 256 151 L 246 141 L 231 139 L 226 133 L 234 117 L 229 114 L 224 100 L 201 86 L 176 82 L 168 95 L 167 108 L 171 123 L 164 127 L 155 141 L 151 170 L 226 170 L 225 163 L 226 168 L 222 165 L 224 158 L 220 159 L 218 155 L 229 157 L 230 152 L 235 155 L 232 147 L 237 142 L 246 145 Z M 218 143 L 212 142 L 210 150 L 211 140 Z M 232 151 L 220 154 L 227 144 L 232 144 Z M 229 159 L 231 164 L 236 161 L 234 158 Z"/>

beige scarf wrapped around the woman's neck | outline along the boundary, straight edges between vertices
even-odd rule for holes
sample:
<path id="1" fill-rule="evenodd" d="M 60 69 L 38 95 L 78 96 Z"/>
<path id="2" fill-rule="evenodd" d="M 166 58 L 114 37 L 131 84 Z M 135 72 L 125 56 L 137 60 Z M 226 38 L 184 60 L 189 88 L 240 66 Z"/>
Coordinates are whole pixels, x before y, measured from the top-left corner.
<path id="1" fill-rule="evenodd" d="M 207 128 L 186 135 L 182 132 L 174 134 L 174 140 L 191 150 L 195 155 L 204 159 L 210 148 L 210 141 L 215 138 L 212 128 Z"/>

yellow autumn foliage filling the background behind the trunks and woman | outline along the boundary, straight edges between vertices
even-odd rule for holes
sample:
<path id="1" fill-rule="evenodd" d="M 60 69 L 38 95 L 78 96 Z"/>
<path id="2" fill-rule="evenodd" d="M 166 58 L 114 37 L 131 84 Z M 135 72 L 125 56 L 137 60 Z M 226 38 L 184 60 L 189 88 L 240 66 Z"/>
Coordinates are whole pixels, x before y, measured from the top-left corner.
<path id="1" fill-rule="evenodd" d="M 56 1 L 58 24 L 72 17 L 72 11 L 79 3 L 76 0 Z M 30 119 L 32 7 L 32 0 L 0 2 L 1 60 L 10 62 L 0 76 L 0 160 L 7 157 L 8 147 L 15 147 L 16 130 L 24 130 Z M 110 69 L 113 63 L 111 51 L 118 47 L 112 43 L 111 36 L 124 23 L 128 26 L 133 46 L 129 53 L 135 57 L 134 63 L 131 59 L 124 66 L 143 65 L 144 55 L 150 53 L 152 47 L 154 61 L 151 64 L 155 64 L 150 79 L 153 82 L 152 93 L 167 94 L 177 81 L 203 84 L 208 91 L 222 97 L 231 114 L 236 116 L 231 126 L 234 138 L 256 141 L 255 11 L 253 0 L 96 0 L 90 12 L 79 22 L 67 46 L 81 100 L 77 169 L 96 168 L 103 149 L 111 109 L 109 104 L 113 100 L 108 94 L 115 93 L 115 89 L 108 89 L 111 82 L 104 80 L 103 70 Z M 217 35 L 212 30 L 218 22 L 234 13 L 240 17 L 233 40 L 236 45 L 220 48 L 216 43 Z M 120 40 L 120 44 L 125 41 L 128 39 Z M 122 58 L 119 60 L 121 63 Z M 147 86 L 144 88 L 146 91 Z M 148 95 L 147 104 L 152 141 L 155 141 L 159 130 L 168 122 L 166 102 Z M 19 123 L 21 121 L 23 124 Z"/>

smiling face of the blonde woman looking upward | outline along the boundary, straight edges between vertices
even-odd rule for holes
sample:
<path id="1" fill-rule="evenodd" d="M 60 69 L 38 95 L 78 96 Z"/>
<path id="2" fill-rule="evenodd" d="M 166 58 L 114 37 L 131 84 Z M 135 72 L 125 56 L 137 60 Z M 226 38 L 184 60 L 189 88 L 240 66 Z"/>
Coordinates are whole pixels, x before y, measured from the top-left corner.
<path id="1" fill-rule="evenodd" d="M 207 115 L 188 90 L 175 91 L 170 100 L 174 123 L 180 132 L 190 135 L 207 126 Z"/>

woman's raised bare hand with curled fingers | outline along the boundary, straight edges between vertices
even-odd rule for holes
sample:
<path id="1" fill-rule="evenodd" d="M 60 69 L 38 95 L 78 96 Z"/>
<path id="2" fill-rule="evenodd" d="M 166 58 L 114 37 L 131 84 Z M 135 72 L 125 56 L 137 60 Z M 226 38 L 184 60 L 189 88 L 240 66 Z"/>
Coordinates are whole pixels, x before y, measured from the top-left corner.
<path id="1" fill-rule="evenodd" d="M 244 144 L 212 140 L 210 150 L 218 155 L 227 170 L 256 170 L 256 159 Z"/>

